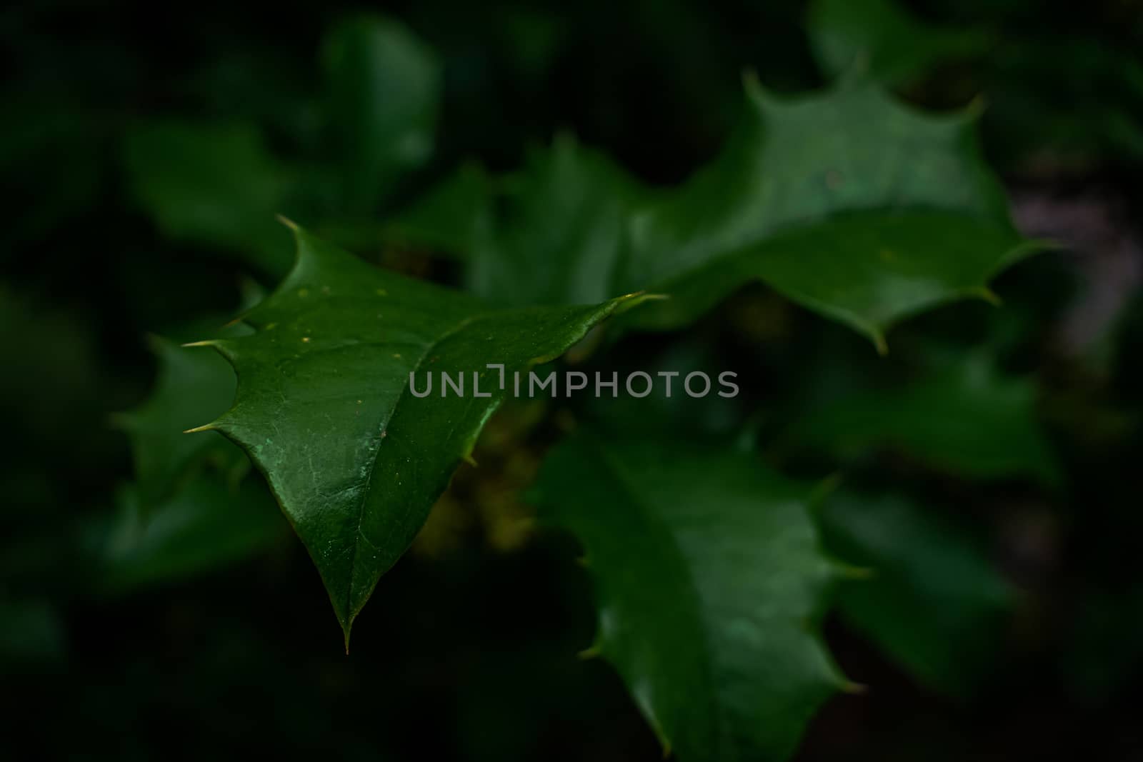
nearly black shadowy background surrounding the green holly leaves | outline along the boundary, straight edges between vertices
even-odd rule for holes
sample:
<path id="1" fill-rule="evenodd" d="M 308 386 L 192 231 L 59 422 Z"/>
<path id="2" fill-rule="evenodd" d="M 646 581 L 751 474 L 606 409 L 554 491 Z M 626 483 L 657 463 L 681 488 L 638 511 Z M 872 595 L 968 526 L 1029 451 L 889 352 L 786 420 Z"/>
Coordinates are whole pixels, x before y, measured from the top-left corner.
<path id="1" fill-rule="evenodd" d="M 911 7 L 994 42 L 898 90 L 933 107 L 983 94 L 985 150 L 1017 220 L 1069 247 L 1001 279 L 996 290 L 1017 320 L 980 305 L 938 311 L 902 329 L 900 346 L 908 358 L 926 337 L 967 346 L 1015 324 L 1006 367 L 1034 374 L 1069 478 L 1047 494 L 920 478 L 900 464 L 878 472 L 892 481 L 904 471 L 946 507 L 986 513 L 980 531 L 1020 602 L 990 641 L 994 667 L 958 698 L 919 687 L 829 619 L 842 668 L 869 689 L 833 699 L 799 759 L 1143 760 L 1143 3 Z M 243 276 L 269 280 L 163 236 L 131 193 L 125 136 L 154 118 L 239 119 L 259 125 L 272 151 L 306 150 L 319 142 L 319 40 L 362 9 L 0 10 L 0 757 L 661 756 L 614 672 L 576 658 L 592 609 L 567 538 L 497 539 L 494 519 L 454 505 L 462 518 L 446 516 L 383 578 L 347 657 L 318 576 L 285 534 L 181 579 L 95 584 L 117 489 L 133 478 L 112 414 L 139 404 L 154 382 L 146 335 L 233 313 Z M 648 182 L 679 182 L 726 137 L 744 69 L 782 93 L 825 82 L 798 2 L 430 0 L 379 10 L 445 66 L 438 150 L 406 181 L 409 195 L 466 159 L 510 170 L 560 129 Z M 431 272 L 454 279 L 448 264 Z M 809 374 L 876 366 L 858 337 L 775 302 L 749 288 L 688 335 L 752 369 L 754 403 Z M 752 310 L 777 310 L 778 328 L 753 330 L 742 316 Z M 629 340 L 652 355 L 663 339 Z M 822 368 L 822 347 L 840 347 L 834 366 Z M 488 457 L 482 475 L 458 476 L 453 503 L 477 505 L 483 482 L 511 481 L 511 456 Z"/>

